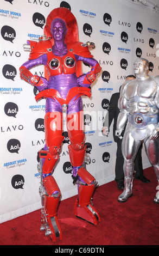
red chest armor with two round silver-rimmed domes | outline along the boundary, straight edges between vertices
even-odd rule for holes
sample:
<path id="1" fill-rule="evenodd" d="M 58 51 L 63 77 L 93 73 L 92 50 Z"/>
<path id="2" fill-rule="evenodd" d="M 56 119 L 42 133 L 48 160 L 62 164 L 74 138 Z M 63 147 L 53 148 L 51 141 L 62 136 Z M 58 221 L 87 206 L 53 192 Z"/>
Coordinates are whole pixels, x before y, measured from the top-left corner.
<path id="1" fill-rule="evenodd" d="M 55 56 L 52 51 L 47 53 L 47 72 L 49 76 L 60 74 L 74 74 L 77 71 L 77 61 L 73 53 L 68 52 L 65 56 Z"/>

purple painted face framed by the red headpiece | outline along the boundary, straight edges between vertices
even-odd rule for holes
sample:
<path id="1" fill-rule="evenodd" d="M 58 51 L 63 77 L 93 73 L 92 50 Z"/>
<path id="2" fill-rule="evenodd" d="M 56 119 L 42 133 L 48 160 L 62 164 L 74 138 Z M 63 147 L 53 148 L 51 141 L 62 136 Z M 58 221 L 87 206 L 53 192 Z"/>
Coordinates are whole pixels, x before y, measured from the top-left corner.
<path id="1" fill-rule="evenodd" d="M 52 25 L 50 28 L 52 36 L 55 41 L 61 41 L 65 38 L 67 33 L 66 23 L 62 19 L 55 19 L 52 21 Z"/>

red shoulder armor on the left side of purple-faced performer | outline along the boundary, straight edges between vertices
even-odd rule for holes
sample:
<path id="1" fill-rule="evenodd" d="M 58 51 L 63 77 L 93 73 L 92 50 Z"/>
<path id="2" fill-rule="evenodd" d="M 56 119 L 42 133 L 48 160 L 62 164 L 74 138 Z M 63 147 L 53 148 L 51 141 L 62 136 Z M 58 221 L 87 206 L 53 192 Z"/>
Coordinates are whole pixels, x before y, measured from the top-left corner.
<path id="1" fill-rule="evenodd" d="M 50 40 L 44 41 L 31 41 L 28 40 L 30 43 L 31 52 L 29 55 L 29 59 L 37 59 L 38 57 L 52 51 L 52 43 Z"/>

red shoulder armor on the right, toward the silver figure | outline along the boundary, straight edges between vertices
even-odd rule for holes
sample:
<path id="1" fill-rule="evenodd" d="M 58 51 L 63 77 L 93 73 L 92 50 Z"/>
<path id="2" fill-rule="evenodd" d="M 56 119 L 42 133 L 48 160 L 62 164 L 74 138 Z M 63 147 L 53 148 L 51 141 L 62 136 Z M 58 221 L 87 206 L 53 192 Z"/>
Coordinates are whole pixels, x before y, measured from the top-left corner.
<path id="1" fill-rule="evenodd" d="M 88 46 L 85 46 L 82 42 L 70 42 L 67 44 L 68 52 L 72 52 L 85 58 L 93 58 Z"/>

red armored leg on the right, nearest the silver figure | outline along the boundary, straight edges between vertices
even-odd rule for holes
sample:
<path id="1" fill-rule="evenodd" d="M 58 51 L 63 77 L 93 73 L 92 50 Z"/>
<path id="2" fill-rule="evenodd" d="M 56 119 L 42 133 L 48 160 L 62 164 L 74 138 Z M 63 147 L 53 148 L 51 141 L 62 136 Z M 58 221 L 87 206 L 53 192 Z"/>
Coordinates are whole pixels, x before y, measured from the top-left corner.
<path id="1" fill-rule="evenodd" d="M 74 119 L 78 120 L 79 127 L 82 121 L 81 117 L 81 112 L 74 114 Z M 71 116 L 67 116 L 67 121 L 71 121 Z M 68 145 L 69 157 L 73 166 L 73 183 L 78 184 L 78 199 L 74 204 L 74 213 L 77 217 L 97 225 L 100 222 L 100 216 L 91 202 L 97 182 L 83 167 L 86 153 L 85 135 L 82 129 L 74 130 L 70 128 L 68 125 L 68 135 L 71 142 L 71 145 Z"/>

